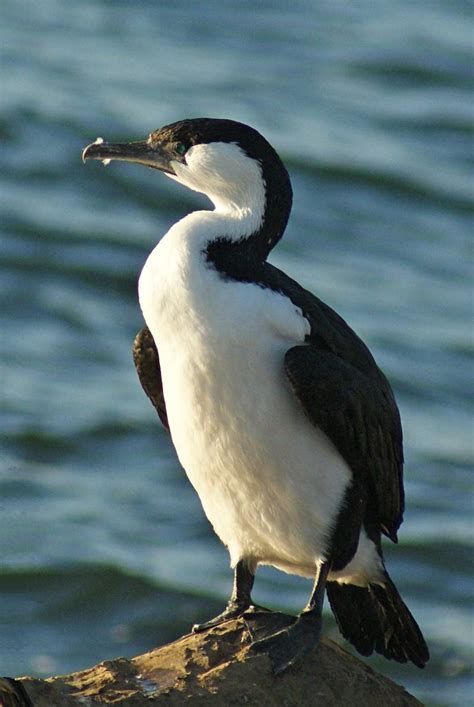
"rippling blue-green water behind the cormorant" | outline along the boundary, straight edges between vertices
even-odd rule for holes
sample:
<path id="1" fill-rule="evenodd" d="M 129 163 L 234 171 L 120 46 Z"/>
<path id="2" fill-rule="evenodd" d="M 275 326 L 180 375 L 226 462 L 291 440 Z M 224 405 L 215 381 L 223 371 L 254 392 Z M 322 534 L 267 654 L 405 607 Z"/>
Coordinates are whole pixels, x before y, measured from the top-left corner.
<path id="1" fill-rule="evenodd" d="M 136 280 L 204 201 L 80 162 L 97 135 L 226 116 L 284 158 L 272 256 L 335 307 L 396 390 L 407 512 L 388 564 L 425 671 L 371 662 L 430 705 L 473 689 L 470 6 L 459 1 L 4 0 L 1 8 L 0 673 L 133 655 L 222 608 L 231 575 L 130 345 Z M 259 573 L 289 611 L 307 582 Z M 338 637 L 329 613 L 326 632 Z"/>

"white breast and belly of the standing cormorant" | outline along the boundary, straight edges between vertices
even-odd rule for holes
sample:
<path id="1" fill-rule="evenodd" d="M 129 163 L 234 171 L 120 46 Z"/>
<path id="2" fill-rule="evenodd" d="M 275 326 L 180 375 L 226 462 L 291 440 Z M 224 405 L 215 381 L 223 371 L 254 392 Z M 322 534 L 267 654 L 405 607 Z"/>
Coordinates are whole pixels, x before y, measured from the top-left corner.
<path id="1" fill-rule="evenodd" d="M 307 321 L 281 294 L 205 264 L 215 218 L 197 212 L 176 224 L 140 277 L 173 443 L 233 565 L 246 558 L 313 575 L 350 471 L 284 372 Z"/>

